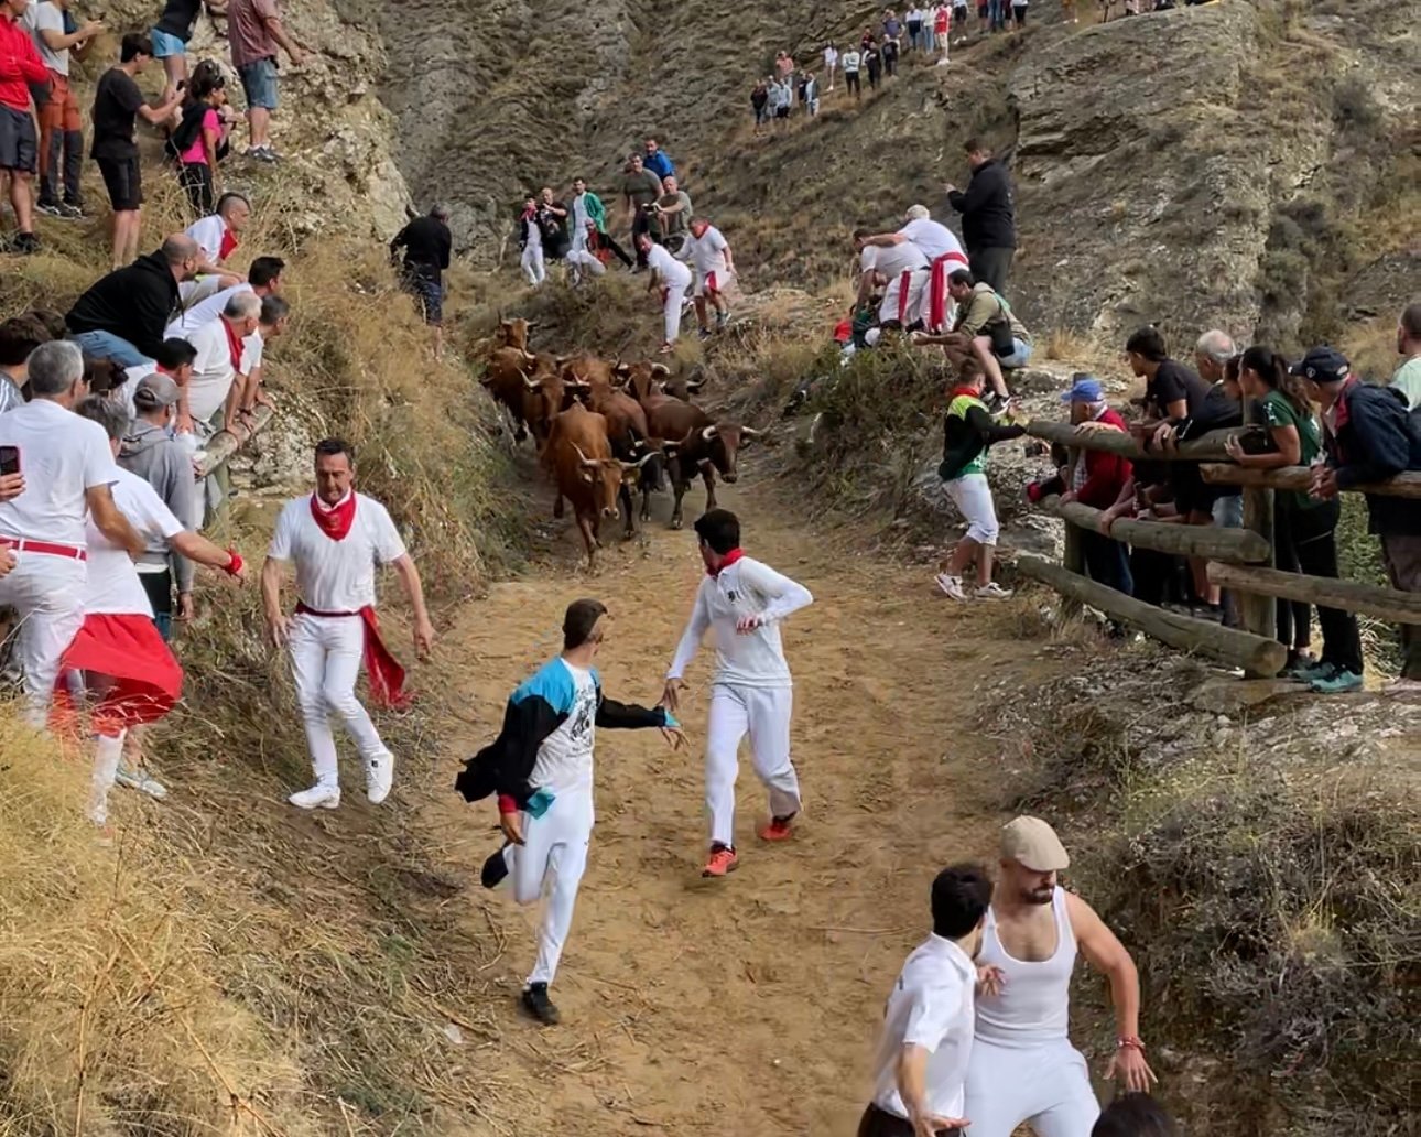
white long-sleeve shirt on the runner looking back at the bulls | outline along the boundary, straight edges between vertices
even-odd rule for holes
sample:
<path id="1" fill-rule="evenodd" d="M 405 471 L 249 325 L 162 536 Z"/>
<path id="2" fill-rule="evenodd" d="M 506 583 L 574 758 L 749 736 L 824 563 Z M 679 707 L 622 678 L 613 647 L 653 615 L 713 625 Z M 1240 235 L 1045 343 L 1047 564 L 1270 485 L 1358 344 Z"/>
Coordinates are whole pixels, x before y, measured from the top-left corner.
<path id="1" fill-rule="evenodd" d="M 712 628 L 716 647 L 712 682 L 732 686 L 791 686 L 779 624 L 813 603 L 814 597 L 803 584 L 776 573 L 767 564 L 740 557 L 716 576 L 701 581 L 691 621 L 666 678 L 679 679 L 685 674 L 706 628 Z M 759 615 L 763 623 L 740 635 L 735 625 L 746 615 Z"/>

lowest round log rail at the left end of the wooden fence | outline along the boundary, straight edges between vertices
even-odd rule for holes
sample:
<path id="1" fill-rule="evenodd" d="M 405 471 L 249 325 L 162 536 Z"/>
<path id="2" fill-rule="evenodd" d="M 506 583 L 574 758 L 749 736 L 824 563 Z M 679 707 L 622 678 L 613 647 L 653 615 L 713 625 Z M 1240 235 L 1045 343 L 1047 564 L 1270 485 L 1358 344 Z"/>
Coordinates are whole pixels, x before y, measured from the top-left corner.
<path id="1" fill-rule="evenodd" d="M 1249 675 L 1277 675 L 1287 662 L 1287 650 L 1276 640 L 1253 635 L 1236 628 L 1225 628 L 1192 615 L 1177 615 L 1155 608 L 1142 600 L 1117 593 L 1069 568 L 1022 553 L 1016 570 L 1032 580 L 1047 584 L 1061 596 L 1090 604 L 1106 615 L 1140 628 L 1145 635 L 1181 651 L 1196 652 L 1229 667 L 1241 667 Z"/>

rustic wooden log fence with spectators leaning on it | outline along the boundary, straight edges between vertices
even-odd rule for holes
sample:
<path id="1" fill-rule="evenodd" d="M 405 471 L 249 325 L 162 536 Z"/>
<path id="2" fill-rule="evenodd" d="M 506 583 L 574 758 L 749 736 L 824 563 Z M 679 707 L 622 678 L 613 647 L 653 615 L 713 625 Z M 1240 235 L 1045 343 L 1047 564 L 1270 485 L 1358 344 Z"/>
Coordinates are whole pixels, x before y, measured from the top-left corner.
<path id="1" fill-rule="evenodd" d="M 1287 661 L 1287 650 L 1276 638 L 1277 598 L 1341 608 L 1398 624 L 1421 624 L 1418 593 L 1283 573 L 1273 567 L 1273 492 L 1306 490 L 1312 485 L 1312 472 L 1306 466 L 1258 470 L 1233 465 L 1223 443 L 1231 435 L 1245 433 L 1243 428 L 1214 431 L 1172 451 L 1148 452 L 1134 435 L 1121 431 L 1080 431 L 1066 422 L 1030 422 L 1026 432 L 1071 451 L 1104 451 L 1133 460 L 1195 462 L 1205 482 L 1242 486 L 1243 490 L 1241 529 L 1120 517 L 1107 532 L 1100 526 L 1101 510 L 1080 502 L 1061 503 L 1054 496 L 1043 499 L 1040 509 L 1066 522 L 1063 563 L 1023 553 L 1016 567 L 1022 576 L 1050 586 L 1069 601 L 1098 608 L 1169 647 L 1243 668 L 1250 678 L 1277 675 Z M 1421 473 L 1403 473 L 1381 485 L 1356 486 L 1351 492 L 1421 497 Z M 1239 597 L 1243 627 L 1225 628 L 1208 620 L 1178 615 L 1090 580 L 1084 571 L 1081 530 L 1140 549 L 1205 559 L 1209 581 Z"/>

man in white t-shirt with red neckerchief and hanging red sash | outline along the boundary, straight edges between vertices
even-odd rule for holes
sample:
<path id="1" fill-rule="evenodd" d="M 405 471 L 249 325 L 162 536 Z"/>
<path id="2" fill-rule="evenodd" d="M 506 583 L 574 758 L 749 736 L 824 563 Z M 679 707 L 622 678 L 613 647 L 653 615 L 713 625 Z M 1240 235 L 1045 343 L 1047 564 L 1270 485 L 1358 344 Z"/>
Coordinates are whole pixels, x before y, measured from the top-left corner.
<path id="1" fill-rule="evenodd" d="M 395 777 L 394 755 L 381 742 L 369 713 L 355 698 L 361 662 L 377 705 L 408 705 L 404 668 L 379 638 L 375 618 L 375 566 L 395 568 L 415 617 L 415 650 L 423 657 L 435 630 L 425 610 L 419 570 L 399 530 L 374 497 L 355 492 L 355 458 L 335 438 L 315 446 L 315 493 L 287 502 L 277 517 L 261 566 L 261 601 L 277 647 L 291 654 L 296 698 L 306 722 L 315 785 L 288 799 L 298 809 L 341 803 L 335 739 L 330 716 L 345 725 L 365 763 L 365 794 L 378 806 Z M 296 563 L 296 615 L 281 607 L 281 566 Z"/>

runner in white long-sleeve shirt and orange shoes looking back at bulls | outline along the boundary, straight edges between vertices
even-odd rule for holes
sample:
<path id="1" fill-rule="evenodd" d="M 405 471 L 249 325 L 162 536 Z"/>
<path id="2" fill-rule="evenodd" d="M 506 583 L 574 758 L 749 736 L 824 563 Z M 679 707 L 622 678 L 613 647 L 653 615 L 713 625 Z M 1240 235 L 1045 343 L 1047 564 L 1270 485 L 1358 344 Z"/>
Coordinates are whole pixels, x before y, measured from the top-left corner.
<path id="1" fill-rule="evenodd" d="M 703 877 L 723 877 L 739 864 L 735 851 L 736 752 L 750 736 L 755 772 L 770 792 L 770 820 L 760 839 L 783 841 L 800 810 L 799 775 L 790 762 L 793 681 L 780 621 L 814 603 L 809 588 L 740 551 L 740 520 L 728 509 L 702 513 L 695 524 L 706 576 L 696 591 L 676 657 L 666 672 L 662 704 L 678 706 L 681 677 L 701 648 L 706 628 L 715 631 L 716 669 L 710 681 L 706 729 L 706 813 L 710 854 Z"/>

